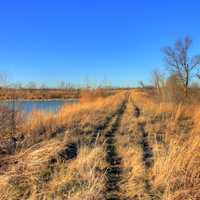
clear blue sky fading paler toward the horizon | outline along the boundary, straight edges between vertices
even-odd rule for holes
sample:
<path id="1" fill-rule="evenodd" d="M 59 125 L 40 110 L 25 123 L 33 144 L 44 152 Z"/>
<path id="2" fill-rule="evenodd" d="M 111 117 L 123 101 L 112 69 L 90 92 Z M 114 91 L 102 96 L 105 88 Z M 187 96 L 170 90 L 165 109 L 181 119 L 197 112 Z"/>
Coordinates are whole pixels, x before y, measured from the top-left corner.
<path id="1" fill-rule="evenodd" d="M 11 82 L 132 86 L 163 67 L 160 49 L 189 34 L 199 0 L 0 1 L 0 72 Z"/>

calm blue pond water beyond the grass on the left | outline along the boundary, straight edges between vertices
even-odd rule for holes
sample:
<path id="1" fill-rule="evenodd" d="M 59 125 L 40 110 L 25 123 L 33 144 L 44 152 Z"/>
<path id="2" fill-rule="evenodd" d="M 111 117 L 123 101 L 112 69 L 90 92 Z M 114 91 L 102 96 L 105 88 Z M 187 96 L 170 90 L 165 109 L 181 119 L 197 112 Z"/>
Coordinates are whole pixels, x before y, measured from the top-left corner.
<path id="1" fill-rule="evenodd" d="M 29 113 L 32 110 L 57 112 L 64 104 L 78 103 L 77 99 L 66 100 L 45 100 L 45 101 L 15 101 L 14 105 L 12 101 L 0 101 L 0 106 L 15 108 L 15 110 L 21 110 L 25 113 Z"/>

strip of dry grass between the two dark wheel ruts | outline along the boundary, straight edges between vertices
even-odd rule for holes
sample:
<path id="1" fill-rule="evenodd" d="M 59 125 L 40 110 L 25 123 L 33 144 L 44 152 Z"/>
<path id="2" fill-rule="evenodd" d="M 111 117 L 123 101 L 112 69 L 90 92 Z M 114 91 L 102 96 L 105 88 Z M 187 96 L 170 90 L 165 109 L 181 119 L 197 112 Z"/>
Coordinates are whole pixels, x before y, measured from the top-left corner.
<path id="1" fill-rule="evenodd" d="M 122 118 L 117 147 L 122 162 L 121 196 L 125 199 L 149 199 L 144 189 L 145 168 L 142 162 L 142 149 L 139 145 L 137 120 L 132 115 L 133 104 L 128 103 Z"/>

